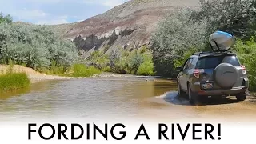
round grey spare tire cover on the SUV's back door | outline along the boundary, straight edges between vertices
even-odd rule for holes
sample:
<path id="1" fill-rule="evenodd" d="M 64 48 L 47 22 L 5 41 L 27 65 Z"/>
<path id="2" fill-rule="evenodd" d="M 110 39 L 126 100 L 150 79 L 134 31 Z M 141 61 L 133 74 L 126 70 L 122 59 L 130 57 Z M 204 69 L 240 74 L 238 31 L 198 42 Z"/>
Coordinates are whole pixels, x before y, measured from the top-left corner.
<path id="1" fill-rule="evenodd" d="M 238 80 L 238 72 L 229 63 L 222 63 L 214 70 L 214 79 L 222 88 L 232 88 Z"/>

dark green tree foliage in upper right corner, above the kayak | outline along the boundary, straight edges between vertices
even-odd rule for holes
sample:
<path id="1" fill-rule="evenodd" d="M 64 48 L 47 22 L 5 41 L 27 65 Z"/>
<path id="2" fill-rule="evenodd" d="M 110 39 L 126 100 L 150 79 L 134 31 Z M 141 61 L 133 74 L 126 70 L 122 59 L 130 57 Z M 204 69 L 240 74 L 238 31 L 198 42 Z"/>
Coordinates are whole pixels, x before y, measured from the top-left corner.
<path id="1" fill-rule="evenodd" d="M 201 0 L 201 9 L 194 12 L 195 21 L 207 21 L 206 36 L 223 30 L 238 38 L 249 39 L 256 30 L 254 0 Z"/>

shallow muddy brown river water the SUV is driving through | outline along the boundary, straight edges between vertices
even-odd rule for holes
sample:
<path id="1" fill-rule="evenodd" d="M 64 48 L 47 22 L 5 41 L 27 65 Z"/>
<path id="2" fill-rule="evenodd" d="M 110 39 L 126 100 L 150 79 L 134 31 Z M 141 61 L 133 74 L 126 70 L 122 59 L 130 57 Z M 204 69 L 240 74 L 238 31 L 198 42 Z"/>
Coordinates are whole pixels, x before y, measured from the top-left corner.
<path id="1" fill-rule="evenodd" d="M 46 81 L 30 90 L 0 96 L 0 120 L 31 118 L 146 118 L 174 120 L 222 118 L 253 120 L 256 102 L 233 98 L 209 99 L 203 106 L 190 106 L 179 98 L 174 82 L 145 78 L 81 78 Z"/>

